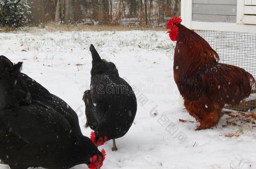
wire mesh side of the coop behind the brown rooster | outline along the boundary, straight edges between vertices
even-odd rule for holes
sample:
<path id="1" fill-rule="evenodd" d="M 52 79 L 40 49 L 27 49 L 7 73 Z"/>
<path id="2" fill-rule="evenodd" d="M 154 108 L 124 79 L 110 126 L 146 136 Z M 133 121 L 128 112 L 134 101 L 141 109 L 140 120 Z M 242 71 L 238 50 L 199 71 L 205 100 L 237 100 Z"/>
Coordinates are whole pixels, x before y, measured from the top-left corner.
<path id="1" fill-rule="evenodd" d="M 219 54 L 221 63 L 239 66 L 256 78 L 256 33 L 236 33 L 196 30 Z M 236 106 L 225 108 L 235 111 L 248 111 L 256 108 L 255 86 L 251 96 Z"/>

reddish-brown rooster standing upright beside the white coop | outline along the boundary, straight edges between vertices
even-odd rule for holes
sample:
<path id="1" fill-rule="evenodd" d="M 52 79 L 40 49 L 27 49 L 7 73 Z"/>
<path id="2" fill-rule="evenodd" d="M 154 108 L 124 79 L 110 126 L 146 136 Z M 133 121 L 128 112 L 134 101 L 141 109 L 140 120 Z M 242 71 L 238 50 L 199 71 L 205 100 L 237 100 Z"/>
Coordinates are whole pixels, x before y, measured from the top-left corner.
<path id="1" fill-rule="evenodd" d="M 167 23 L 174 54 L 174 80 L 184 105 L 200 125 L 196 130 L 217 126 L 225 104 L 235 105 L 250 96 L 253 76 L 237 66 L 219 63 L 219 55 L 209 43 L 181 25 L 180 17 Z"/>

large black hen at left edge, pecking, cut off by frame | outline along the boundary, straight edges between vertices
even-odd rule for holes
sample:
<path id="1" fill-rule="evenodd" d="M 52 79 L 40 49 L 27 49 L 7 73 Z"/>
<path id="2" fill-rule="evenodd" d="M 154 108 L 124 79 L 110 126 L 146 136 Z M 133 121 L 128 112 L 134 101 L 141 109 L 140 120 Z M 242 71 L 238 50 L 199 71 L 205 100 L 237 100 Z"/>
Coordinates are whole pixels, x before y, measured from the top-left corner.
<path id="1" fill-rule="evenodd" d="M 76 113 L 0 56 L 0 159 L 11 169 L 102 166 L 104 150 L 81 134 Z"/>

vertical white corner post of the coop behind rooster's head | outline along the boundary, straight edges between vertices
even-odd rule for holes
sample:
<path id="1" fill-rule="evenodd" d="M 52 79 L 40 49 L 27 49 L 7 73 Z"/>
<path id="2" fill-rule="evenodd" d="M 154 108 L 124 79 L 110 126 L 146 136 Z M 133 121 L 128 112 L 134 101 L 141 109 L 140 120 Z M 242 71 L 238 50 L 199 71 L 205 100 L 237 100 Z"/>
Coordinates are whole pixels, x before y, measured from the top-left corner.
<path id="1" fill-rule="evenodd" d="M 182 24 L 191 28 L 193 0 L 181 0 Z"/>

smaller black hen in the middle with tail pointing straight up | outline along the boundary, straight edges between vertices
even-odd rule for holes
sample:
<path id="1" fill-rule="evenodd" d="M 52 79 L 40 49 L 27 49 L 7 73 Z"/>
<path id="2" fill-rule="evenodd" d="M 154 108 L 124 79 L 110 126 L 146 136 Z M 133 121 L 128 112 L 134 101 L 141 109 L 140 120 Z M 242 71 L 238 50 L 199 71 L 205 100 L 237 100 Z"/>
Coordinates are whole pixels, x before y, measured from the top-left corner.
<path id="1" fill-rule="evenodd" d="M 136 96 L 131 86 L 119 77 L 115 64 L 101 59 L 93 45 L 91 90 L 84 92 L 86 127 L 94 130 L 91 140 L 97 146 L 113 139 L 112 151 L 117 147 L 115 139 L 124 136 L 137 111 Z"/>

